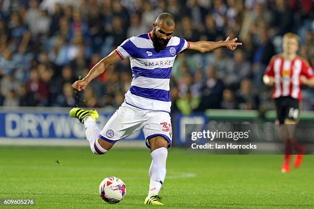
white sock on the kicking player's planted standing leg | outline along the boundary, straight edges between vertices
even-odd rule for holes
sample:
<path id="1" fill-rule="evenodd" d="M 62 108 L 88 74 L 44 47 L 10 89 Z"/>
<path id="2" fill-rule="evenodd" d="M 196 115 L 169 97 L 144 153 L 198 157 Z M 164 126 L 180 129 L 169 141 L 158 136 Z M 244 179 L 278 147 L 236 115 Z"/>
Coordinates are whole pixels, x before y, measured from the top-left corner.
<path id="1" fill-rule="evenodd" d="M 149 168 L 149 192 L 148 197 L 158 195 L 162 184 L 166 177 L 166 161 L 168 150 L 167 148 L 159 148 L 150 153 L 152 158 Z"/>

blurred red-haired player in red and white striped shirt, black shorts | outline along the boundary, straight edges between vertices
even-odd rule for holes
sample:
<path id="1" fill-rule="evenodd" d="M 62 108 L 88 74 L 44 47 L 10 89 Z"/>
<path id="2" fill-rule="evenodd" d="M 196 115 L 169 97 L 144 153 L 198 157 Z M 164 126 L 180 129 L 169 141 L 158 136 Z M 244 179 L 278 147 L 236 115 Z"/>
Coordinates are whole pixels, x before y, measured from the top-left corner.
<path id="1" fill-rule="evenodd" d="M 295 139 L 295 128 L 302 101 L 302 85 L 314 86 L 313 70 L 305 59 L 297 55 L 298 48 L 299 37 L 286 33 L 283 37 L 283 53 L 271 58 L 263 77 L 266 85 L 274 86 L 272 97 L 279 124 L 288 124 L 280 127 L 285 140 L 284 163 L 281 169 L 283 173 L 290 171 L 292 149 L 298 153 L 295 167 L 298 168 L 302 163 L 305 147 Z"/>

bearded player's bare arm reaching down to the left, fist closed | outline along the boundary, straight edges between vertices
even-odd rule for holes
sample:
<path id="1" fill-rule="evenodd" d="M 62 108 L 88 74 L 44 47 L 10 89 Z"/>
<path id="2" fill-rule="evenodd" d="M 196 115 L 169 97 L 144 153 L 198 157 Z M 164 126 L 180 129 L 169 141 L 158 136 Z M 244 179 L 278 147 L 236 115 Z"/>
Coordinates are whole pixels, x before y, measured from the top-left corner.
<path id="1" fill-rule="evenodd" d="M 90 83 L 92 79 L 100 76 L 109 66 L 115 64 L 115 62 L 119 60 L 119 55 L 112 51 L 108 56 L 100 60 L 82 80 L 75 81 L 72 85 L 72 88 L 75 91 L 85 90 L 88 83 Z"/>

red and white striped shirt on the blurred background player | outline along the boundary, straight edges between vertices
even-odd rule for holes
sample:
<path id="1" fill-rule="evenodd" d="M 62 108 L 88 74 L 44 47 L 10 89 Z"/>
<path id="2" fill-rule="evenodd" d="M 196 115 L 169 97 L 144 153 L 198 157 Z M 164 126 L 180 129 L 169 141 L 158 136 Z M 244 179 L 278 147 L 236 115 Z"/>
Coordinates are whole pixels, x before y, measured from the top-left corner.
<path id="1" fill-rule="evenodd" d="M 284 59 L 281 54 L 271 58 L 265 75 L 274 77 L 272 98 L 291 96 L 302 100 L 301 75 L 313 78 L 313 70 L 308 62 L 300 56 L 295 59 Z"/>

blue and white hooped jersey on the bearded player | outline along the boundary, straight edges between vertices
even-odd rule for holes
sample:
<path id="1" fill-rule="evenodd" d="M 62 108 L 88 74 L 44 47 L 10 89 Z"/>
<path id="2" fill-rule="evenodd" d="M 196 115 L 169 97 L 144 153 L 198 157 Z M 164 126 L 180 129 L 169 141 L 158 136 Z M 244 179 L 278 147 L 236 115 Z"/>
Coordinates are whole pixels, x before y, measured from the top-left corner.
<path id="1" fill-rule="evenodd" d="M 130 58 L 132 82 L 125 102 L 144 109 L 170 113 L 170 76 L 176 55 L 190 44 L 185 39 L 171 37 L 167 47 L 156 52 L 151 33 L 126 39 L 115 52 L 121 59 Z"/>

